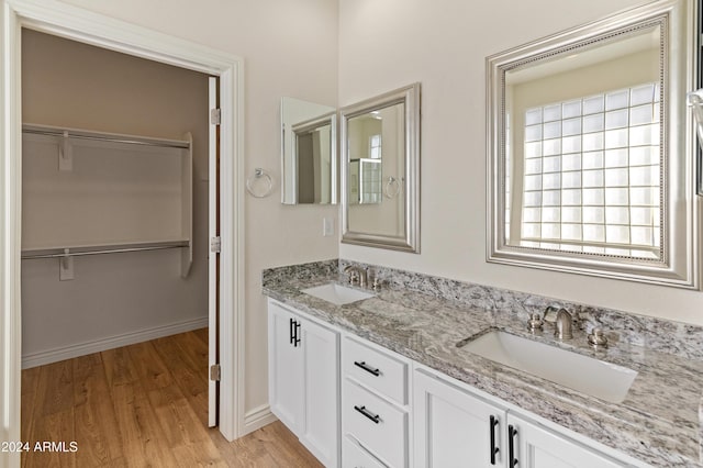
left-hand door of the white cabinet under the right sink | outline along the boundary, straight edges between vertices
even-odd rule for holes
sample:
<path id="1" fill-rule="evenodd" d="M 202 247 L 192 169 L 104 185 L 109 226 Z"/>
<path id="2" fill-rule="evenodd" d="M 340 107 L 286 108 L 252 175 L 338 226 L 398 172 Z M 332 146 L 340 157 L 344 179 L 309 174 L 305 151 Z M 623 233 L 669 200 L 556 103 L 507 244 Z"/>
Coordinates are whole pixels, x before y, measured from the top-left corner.
<path id="1" fill-rule="evenodd" d="M 503 409 L 421 370 L 413 379 L 415 466 L 504 466 Z"/>

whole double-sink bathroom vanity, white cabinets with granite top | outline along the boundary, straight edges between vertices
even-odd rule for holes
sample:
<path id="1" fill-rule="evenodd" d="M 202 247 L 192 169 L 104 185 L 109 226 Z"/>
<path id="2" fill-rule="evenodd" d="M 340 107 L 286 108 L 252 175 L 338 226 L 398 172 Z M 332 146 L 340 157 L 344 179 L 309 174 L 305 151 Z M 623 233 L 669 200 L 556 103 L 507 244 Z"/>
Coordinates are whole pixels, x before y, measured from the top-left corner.
<path id="1" fill-rule="evenodd" d="M 680 342 L 669 341 L 678 350 L 663 353 L 649 335 L 650 346 L 633 344 L 628 333 L 646 317 L 620 316 L 627 328 L 620 333 L 607 326 L 617 322 L 613 311 L 561 303 L 578 320 L 573 338 L 559 342 L 549 325 L 526 326 L 525 304 L 544 310 L 546 298 L 382 268 L 376 274 L 384 285 L 365 290 L 373 294 L 367 299 L 335 303 L 301 292 L 342 285 L 342 266 L 264 274 L 271 410 L 326 466 L 701 466 L 703 363 L 689 349 L 698 328 L 685 327 Z M 514 312 L 496 307 L 498 297 Z M 606 328 L 609 347 L 589 346 L 594 322 Z M 593 397 L 466 346 L 495 330 L 635 378 L 622 395 Z"/>

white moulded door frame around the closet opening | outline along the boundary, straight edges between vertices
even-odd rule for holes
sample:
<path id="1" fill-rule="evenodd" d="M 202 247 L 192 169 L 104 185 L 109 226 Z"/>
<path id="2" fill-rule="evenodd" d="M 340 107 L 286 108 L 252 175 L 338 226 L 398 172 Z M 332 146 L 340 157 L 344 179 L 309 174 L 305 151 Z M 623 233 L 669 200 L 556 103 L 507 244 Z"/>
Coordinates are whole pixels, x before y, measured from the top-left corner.
<path id="1" fill-rule="evenodd" d="M 0 0 L 0 439 L 20 441 L 22 215 L 21 31 L 54 34 L 220 77 L 220 432 L 244 433 L 244 69 L 243 59 L 54 0 Z M 19 465 L 0 455 L 0 467 Z"/>

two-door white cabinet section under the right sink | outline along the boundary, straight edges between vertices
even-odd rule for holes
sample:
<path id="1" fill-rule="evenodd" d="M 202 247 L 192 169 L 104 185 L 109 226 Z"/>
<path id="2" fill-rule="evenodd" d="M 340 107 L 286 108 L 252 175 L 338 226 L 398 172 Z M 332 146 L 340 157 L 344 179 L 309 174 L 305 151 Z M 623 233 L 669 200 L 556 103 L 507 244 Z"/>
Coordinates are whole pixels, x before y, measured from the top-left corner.
<path id="1" fill-rule="evenodd" d="M 414 450 L 417 467 L 615 468 L 633 466 L 549 428 L 499 400 L 416 369 Z M 592 443 L 592 441 L 591 441 Z M 639 466 L 639 465 L 638 465 Z"/>

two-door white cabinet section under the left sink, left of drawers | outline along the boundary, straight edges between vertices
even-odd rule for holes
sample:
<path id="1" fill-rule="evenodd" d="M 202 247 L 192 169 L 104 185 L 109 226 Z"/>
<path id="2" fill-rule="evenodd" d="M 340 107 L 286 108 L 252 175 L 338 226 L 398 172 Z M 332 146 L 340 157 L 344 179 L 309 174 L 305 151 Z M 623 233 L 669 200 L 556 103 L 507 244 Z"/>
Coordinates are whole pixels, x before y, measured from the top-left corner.
<path id="1" fill-rule="evenodd" d="M 269 404 L 325 466 L 339 460 L 339 333 L 268 304 Z"/>

